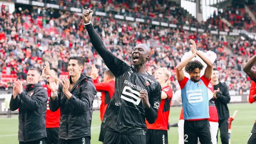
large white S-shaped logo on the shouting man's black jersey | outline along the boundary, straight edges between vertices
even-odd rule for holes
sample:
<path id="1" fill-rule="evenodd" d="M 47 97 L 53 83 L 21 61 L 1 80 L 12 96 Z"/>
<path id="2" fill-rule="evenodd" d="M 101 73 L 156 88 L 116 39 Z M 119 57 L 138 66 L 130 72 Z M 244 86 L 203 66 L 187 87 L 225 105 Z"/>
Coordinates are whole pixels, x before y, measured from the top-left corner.
<path id="1" fill-rule="evenodd" d="M 126 91 L 126 90 L 129 90 L 130 92 Z M 132 93 L 131 93 L 132 92 Z M 127 95 L 127 96 L 130 96 L 132 98 L 134 98 L 135 100 L 133 100 L 132 98 L 128 98 L 124 95 Z M 137 96 L 136 96 L 137 95 Z M 138 91 L 135 91 L 135 90 L 132 90 L 132 88 L 130 88 L 129 86 L 124 86 L 124 89 L 123 89 L 123 92 L 122 92 L 122 95 L 121 95 L 121 98 L 128 101 L 128 102 L 132 102 L 134 103 L 134 105 L 139 105 L 140 101 L 141 101 L 141 98 L 139 98 L 139 92 Z"/>

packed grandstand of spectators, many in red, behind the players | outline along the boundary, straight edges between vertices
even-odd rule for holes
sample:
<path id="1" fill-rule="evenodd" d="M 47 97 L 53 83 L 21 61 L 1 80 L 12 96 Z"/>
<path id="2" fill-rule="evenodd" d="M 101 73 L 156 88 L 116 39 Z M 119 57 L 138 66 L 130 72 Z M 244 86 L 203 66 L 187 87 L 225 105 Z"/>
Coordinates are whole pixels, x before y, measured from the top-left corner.
<path id="1" fill-rule="evenodd" d="M 254 1 L 248 3 L 231 2 L 222 13 L 218 11 L 205 22 L 184 10 L 179 4 L 168 0 L 39 0 L 63 7 L 91 7 L 95 15 L 92 19 L 95 30 L 105 46 L 118 58 L 131 64 L 131 50 L 136 44 L 144 43 L 151 49 L 148 70 L 167 67 L 172 72 L 171 84 L 179 89 L 175 77 L 175 66 L 182 55 L 190 49 L 189 39 L 198 48 L 212 50 L 217 54 L 215 65 L 220 70 L 220 81 L 229 85 L 230 90 L 250 88 L 250 79 L 242 71 L 242 66 L 255 54 L 256 40 L 246 35 L 225 36 L 211 31 L 231 32 L 246 30 L 255 32 Z M 253 3 L 251 3 L 253 2 Z M 248 10 L 254 14 L 251 18 Z M 68 58 L 83 56 L 86 59 L 84 74 L 90 75 L 90 65 L 95 64 L 103 76 L 106 66 L 90 43 L 81 14 L 49 7 L 15 4 L 13 13 L 4 4 L 0 8 L 0 87 L 8 89 L 16 79 L 24 79 L 29 68 L 42 70 L 44 61 L 57 68 L 58 75 L 68 75 Z M 111 17 L 122 15 L 150 21 L 164 21 L 177 27 L 156 26 L 152 23 L 127 21 Z M 223 21 L 223 18 L 227 22 Z M 203 32 L 183 29 L 195 27 Z M 102 78 L 100 78 L 102 79 Z"/>

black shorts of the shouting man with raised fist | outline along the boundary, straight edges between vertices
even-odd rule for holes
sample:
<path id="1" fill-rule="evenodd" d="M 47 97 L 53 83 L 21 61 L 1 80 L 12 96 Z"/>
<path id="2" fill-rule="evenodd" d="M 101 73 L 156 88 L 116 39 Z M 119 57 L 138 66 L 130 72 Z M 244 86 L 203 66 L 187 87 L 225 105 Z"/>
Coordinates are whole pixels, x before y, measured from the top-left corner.
<path id="1" fill-rule="evenodd" d="M 107 127 L 104 144 L 146 144 L 146 135 L 128 135 Z"/>

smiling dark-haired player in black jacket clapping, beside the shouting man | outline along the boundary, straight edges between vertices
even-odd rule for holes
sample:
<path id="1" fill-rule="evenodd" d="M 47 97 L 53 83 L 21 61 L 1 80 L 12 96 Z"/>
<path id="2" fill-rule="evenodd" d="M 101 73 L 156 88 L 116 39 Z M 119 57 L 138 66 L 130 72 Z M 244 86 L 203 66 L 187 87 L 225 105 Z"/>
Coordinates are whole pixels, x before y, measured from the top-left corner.
<path id="1" fill-rule="evenodd" d="M 54 77 L 50 78 L 52 94 L 49 108 L 55 112 L 60 108 L 60 127 L 58 144 L 90 144 L 92 103 L 96 88 L 92 79 L 81 74 L 84 69 L 83 57 L 68 59 L 69 78 L 63 78 L 61 85 Z"/>

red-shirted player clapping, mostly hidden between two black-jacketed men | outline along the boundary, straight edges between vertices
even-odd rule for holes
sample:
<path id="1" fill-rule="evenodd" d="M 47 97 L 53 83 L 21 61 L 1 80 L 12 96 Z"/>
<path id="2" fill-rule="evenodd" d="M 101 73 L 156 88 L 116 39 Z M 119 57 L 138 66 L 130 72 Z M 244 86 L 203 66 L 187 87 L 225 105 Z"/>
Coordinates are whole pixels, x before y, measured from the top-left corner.
<path id="1" fill-rule="evenodd" d="M 42 85 L 44 89 L 48 92 L 48 101 L 47 101 L 47 111 L 46 111 L 46 133 L 47 140 L 46 144 L 58 144 L 59 141 L 59 122 L 60 122 L 60 109 L 52 112 L 49 108 L 49 99 L 52 94 L 52 90 L 50 89 L 49 82 L 50 76 L 54 76 L 55 82 L 58 81 L 57 70 L 54 68 L 50 69 L 50 64 L 45 62 L 45 68 L 42 71 L 40 80 L 44 80 L 46 78 L 47 84 Z M 59 80 L 60 81 L 60 80 Z"/>

